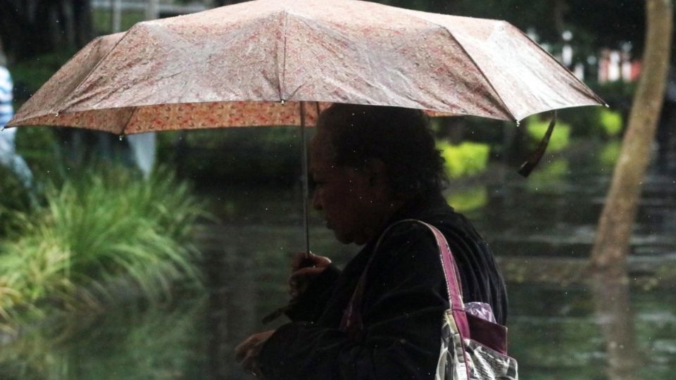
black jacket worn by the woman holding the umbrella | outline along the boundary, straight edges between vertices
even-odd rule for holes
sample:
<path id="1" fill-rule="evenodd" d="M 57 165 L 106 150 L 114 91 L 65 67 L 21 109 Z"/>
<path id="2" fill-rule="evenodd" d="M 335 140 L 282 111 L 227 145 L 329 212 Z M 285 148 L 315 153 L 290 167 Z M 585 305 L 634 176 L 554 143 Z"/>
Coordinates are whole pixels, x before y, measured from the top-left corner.
<path id="1" fill-rule="evenodd" d="M 487 243 L 441 195 L 411 202 L 392 223 L 423 220 L 446 236 L 458 263 L 463 300 L 492 305 L 504 324 L 507 296 Z M 390 224 L 392 224 L 390 223 Z M 266 379 L 434 379 L 442 315 L 449 308 L 434 237 L 419 223 L 389 229 L 368 266 L 361 315 L 363 332 L 340 331 L 343 311 L 374 255 L 370 241 L 342 272 L 329 267 L 287 312 L 285 324 L 263 346 Z"/>

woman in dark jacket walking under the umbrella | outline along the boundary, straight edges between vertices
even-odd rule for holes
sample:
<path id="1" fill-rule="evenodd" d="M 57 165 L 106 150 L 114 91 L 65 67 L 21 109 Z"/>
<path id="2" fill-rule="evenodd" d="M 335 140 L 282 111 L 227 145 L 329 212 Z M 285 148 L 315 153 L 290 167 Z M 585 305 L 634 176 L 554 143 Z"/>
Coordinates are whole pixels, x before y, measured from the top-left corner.
<path id="1" fill-rule="evenodd" d="M 339 241 L 363 248 L 342 271 L 320 256 L 302 267 L 296 260 L 292 322 L 237 347 L 247 371 L 265 379 L 434 379 L 446 283 L 434 237 L 407 220 L 444 234 L 465 303 L 491 305 L 504 324 L 503 279 L 487 243 L 442 196 L 444 161 L 420 110 L 334 105 L 320 115 L 310 158 L 314 208 Z M 344 312 L 362 276 L 362 324 L 346 331 Z"/>

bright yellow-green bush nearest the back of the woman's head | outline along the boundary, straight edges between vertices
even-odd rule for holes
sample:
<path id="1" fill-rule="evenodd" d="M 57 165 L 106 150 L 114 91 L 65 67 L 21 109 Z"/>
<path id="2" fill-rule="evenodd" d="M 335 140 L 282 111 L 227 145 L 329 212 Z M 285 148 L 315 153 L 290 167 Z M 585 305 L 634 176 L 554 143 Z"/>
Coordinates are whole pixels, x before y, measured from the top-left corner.
<path id="1" fill-rule="evenodd" d="M 438 141 L 437 149 L 442 151 L 446 160 L 446 174 L 449 178 L 477 175 L 486 170 L 490 146 L 470 141 L 459 145 L 451 145 L 446 141 Z"/>

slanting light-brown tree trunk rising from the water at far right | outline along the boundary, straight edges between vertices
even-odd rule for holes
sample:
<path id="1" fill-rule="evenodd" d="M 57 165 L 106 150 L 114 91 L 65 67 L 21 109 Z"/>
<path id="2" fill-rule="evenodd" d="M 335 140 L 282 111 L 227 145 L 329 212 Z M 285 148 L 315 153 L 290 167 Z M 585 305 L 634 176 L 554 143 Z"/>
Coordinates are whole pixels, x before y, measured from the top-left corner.
<path id="1" fill-rule="evenodd" d="M 626 273 L 641 182 L 651 156 L 651 143 L 662 108 L 670 60 L 672 15 L 671 0 L 646 0 L 643 72 L 592 248 L 592 267 L 614 272 L 618 277 Z"/>

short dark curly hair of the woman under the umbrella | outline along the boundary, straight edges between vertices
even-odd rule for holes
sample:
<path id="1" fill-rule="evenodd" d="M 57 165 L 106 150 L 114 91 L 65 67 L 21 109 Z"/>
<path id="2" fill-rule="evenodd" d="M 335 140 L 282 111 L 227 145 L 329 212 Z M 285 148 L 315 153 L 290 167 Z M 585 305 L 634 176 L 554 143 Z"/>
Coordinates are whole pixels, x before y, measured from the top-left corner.
<path id="1" fill-rule="evenodd" d="M 421 110 L 344 103 L 318 120 L 330 132 L 336 165 L 360 168 L 379 158 L 394 194 L 403 198 L 441 191 L 448 181 L 429 125 Z"/>

